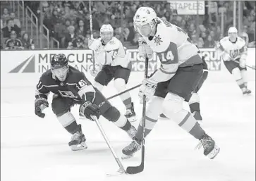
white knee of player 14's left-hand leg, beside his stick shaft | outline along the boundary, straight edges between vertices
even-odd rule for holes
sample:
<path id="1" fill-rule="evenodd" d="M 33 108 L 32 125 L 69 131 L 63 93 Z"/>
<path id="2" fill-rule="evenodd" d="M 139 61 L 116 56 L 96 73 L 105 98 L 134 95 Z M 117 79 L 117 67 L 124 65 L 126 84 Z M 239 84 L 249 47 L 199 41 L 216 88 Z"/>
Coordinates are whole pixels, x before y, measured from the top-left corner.
<path id="1" fill-rule="evenodd" d="M 154 120 L 157 120 L 159 114 L 162 111 L 162 107 L 159 105 L 162 105 L 163 102 L 164 98 L 161 98 L 159 96 L 153 96 L 152 100 L 147 106 L 146 116 Z"/>

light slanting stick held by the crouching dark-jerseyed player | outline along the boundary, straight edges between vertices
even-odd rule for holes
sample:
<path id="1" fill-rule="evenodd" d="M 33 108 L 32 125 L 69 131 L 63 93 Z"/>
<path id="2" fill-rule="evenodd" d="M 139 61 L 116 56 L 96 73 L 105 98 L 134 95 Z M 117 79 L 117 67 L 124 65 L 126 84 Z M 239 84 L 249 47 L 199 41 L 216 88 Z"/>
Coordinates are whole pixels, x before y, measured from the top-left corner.
<path id="1" fill-rule="evenodd" d="M 99 120 L 97 119 L 96 116 L 91 116 L 91 118 L 93 120 L 95 120 L 97 126 L 99 127 L 100 132 L 102 132 L 102 136 L 104 137 L 104 139 L 106 141 L 106 144 L 109 146 L 109 149 L 110 149 L 111 153 L 113 154 L 114 158 L 116 159 L 116 163 L 119 166 L 118 173 L 120 173 L 120 174 L 125 173 L 126 170 L 123 168 L 123 164 L 121 163 L 120 159 L 116 155 L 116 152 L 114 151 L 113 147 L 111 146 L 108 137 L 106 137 L 106 133 L 104 132 L 104 130 L 102 128 L 102 125 L 99 123 Z"/>

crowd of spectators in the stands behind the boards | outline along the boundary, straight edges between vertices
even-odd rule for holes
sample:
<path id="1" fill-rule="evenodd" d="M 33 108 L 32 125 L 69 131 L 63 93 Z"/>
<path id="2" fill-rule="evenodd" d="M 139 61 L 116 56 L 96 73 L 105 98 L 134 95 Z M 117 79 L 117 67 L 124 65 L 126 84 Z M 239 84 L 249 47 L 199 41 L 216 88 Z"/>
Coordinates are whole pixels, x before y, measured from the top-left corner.
<path id="1" fill-rule="evenodd" d="M 158 17 L 187 32 L 198 47 L 213 48 L 233 25 L 233 1 L 205 1 L 205 5 L 205 15 L 197 16 L 178 15 L 167 1 L 92 1 L 92 34 L 99 37 L 99 28 L 109 23 L 114 27 L 114 36 L 121 39 L 126 47 L 138 46 L 140 35 L 133 28 L 133 15 L 140 6 L 150 6 Z M 88 1 L 42 1 L 43 12 L 40 12 L 39 1 L 25 1 L 25 6 L 29 6 L 38 18 L 43 13 L 43 23 L 49 29 L 50 37 L 60 42 L 61 49 L 88 48 L 91 35 Z M 240 36 L 250 46 L 250 42 L 255 44 L 255 1 L 244 1 L 243 7 Z M 221 34 L 221 13 L 224 13 L 224 35 Z M 15 13 L 9 13 L 5 8 L 1 13 L 1 36 L 12 39 L 11 32 L 14 31 L 24 49 L 33 49 L 32 39 L 20 28 L 20 20 Z"/>

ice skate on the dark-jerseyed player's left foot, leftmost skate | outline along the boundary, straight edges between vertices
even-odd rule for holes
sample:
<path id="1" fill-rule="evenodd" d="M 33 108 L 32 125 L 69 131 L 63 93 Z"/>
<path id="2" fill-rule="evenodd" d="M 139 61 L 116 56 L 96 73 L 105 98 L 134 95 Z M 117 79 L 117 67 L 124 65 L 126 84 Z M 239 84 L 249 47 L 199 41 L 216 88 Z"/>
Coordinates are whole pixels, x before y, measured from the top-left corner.
<path id="1" fill-rule="evenodd" d="M 75 132 L 71 137 L 71 142 L 68 143 L 68 146 L 71 146 L 73 151 L 87 149 L 87 144 L 85 143 L 85 135 L 81 130 L 81 125 L 78 125 L 79 130 Z"/>

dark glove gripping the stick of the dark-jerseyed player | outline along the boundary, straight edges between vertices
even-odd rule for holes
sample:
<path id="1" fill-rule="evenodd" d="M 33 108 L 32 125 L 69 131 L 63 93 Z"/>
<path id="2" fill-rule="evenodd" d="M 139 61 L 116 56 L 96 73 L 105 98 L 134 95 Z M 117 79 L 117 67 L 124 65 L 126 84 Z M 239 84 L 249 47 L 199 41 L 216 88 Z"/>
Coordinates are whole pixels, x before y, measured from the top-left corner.
<path id="1" fill-rule="evenodd" d="M 92 104 L 90 101 L 87 101 L 80 105 L 79 113 L 80 115 L 85 116 L 85 118 L 89 120 L 93 120 L 91 116 L 96 116 L 97 118 L 99 118 L 101 114 L 99 111 L 99 107 L 96 104 Z"/>

